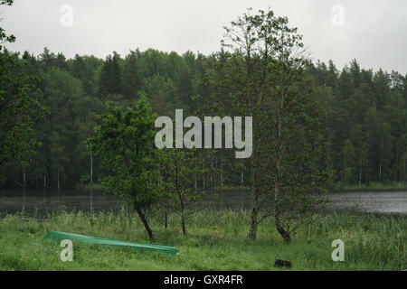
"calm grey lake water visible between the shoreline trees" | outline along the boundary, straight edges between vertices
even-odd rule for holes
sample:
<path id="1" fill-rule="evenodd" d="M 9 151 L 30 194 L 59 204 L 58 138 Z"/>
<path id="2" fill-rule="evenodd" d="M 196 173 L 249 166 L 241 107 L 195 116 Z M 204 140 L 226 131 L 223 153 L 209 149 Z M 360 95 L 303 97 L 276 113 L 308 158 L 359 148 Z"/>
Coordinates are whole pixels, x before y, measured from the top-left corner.
<path id="1" fill-rule="evenodd" d="M 330 194 L 333 209 L 355 209 L 366 212 L 407 214 L 407 191 L 357 191 Z M 230 191 L 210 205 L 246 207 L 250 204 L 249 191 Z M 0 214 L 5 212 L 39 212 L 58 210 L 116 210 L 123 201 L 102 191 L 90 190 L 1 190 Z"/>

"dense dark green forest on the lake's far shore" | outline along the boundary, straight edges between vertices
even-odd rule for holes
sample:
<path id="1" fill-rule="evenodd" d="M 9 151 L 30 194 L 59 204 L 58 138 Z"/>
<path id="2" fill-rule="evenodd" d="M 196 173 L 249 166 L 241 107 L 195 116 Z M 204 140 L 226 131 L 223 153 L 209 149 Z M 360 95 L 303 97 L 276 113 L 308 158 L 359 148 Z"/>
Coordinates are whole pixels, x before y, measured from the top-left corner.
<path id="1" fill-rule="evenodd" d="M 211 107 L 214 89 L 206 74 L 216 61 L 213 55 L 154 49 L 125 56 L 113 52 L 105 60 L 67 59 L 47 48 L 38 56 L 24 52 L 18 56 L 20 72 L 30 76 L 30 93 L 46 107 L 34 126 L 41 145 L 32 158 L 0 167 L 1 186 L 69 188 L 89 183 L 90 177 L 98 182 L 105 172 L 84 141 L 94 135 L 107 102 L 131 107 L 145 96 L 158 116 L 173 117 L 175 108 L 183 108 L 185 116 L 215 116 L 219 111 L 205 107 Z M 319 165 L 333 170 L 331 186 L 405 182 L 407 76 L 365 70 L 356 60 L 343 69 L 332 61 L 309 62 L 307 73 L 323 107 L 327 145 Z M 201 185 L 245 186 L 248 174 L 222 162 L 222 152 L 202 158 Z"/>

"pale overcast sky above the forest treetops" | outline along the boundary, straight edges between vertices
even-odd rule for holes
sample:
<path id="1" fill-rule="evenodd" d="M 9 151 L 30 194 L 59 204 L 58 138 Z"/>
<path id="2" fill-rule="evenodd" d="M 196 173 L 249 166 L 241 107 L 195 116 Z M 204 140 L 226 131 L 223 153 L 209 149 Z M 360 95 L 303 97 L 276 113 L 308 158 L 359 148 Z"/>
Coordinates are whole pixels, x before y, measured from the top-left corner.
<path id="1" fill-rule="evenodd" d="M 8 49 L 34 54 L 45 46 L 67 57 L 137 47 L 209 54 L 224 25 L 248 7 L 269 6 L 298 27 L 315 60 L 407 73 L 406 0 L 14 0 L 0 8 L 0 25 L 17 37 Z"/>

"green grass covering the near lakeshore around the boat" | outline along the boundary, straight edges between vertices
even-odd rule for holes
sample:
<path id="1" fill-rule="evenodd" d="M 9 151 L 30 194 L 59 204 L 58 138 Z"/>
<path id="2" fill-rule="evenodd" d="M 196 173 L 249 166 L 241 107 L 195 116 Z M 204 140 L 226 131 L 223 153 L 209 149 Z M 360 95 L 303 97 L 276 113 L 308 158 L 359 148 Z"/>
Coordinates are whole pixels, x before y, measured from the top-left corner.
<path id="1" fill-rule="evenodd" d="M 73 243 L 73 262 L 62 262 L 62 247 L 42 240 L 51 230 L 102 238 L 147 242 L 136 215 L 125 211 L 61 213 L 46 220 L 8 215 L 0 219 L 0 270 L 276 270 L 274 260 L 293 270 L 407 269 L 407 216 L 337 212 L 318 216 L 284 244 L 272 226 L 261 223 L 258 240 L 247 238 L 250 212 L 201 211 L 188 220 L 183 236 L 179 220 L 168 229 L 153 220 L 156 243 L 179 249 L 178 256 L 143 253 L 130 248 Z M 331 243 L 345 242 L 345 262 L 333 262 Z"/>

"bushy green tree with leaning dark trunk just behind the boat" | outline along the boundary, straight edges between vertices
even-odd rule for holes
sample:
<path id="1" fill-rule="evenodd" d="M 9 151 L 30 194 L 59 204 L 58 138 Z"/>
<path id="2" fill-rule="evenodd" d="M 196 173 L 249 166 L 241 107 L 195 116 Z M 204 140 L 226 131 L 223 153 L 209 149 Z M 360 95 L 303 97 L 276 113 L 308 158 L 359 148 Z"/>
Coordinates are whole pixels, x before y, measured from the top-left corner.
<path id="1" fill-rule="evenodd" d="M 109 105 L 101 116 L 96 135 L 87 141 L 111 174 L 103 178 L 106 191 L 124 199 L 137 211 L 148 237 L 154 241 L 146 211 L 159 200 L 154 155 L 156 116 L 146 98 L 140 98 L 135 109 L 123 111 Z"/>

